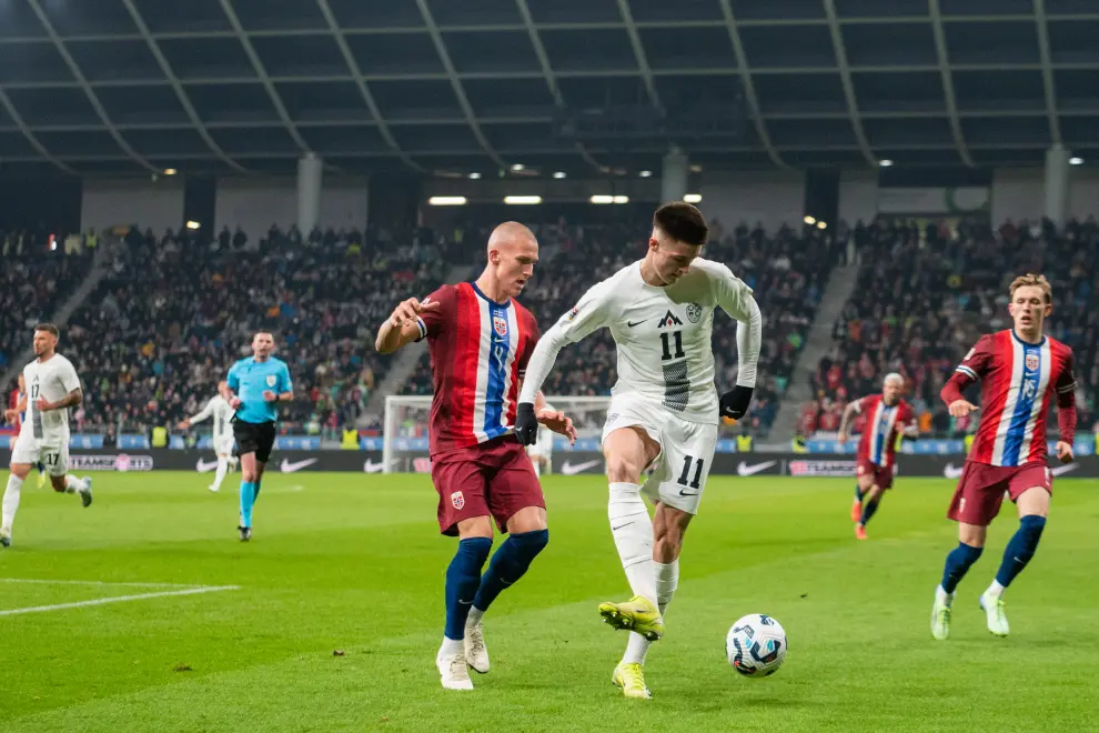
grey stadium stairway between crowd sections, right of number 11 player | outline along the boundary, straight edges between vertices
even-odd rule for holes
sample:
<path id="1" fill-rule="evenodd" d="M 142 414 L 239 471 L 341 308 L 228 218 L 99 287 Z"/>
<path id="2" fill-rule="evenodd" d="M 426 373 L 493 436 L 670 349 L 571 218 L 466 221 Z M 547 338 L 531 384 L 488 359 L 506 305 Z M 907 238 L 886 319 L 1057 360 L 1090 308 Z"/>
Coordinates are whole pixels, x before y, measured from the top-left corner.
<path id="1" fill-rule="evenodd" d="M 858 264 L 848 264 L 836 268 L 828 278 L 828 287 L 825 288 L 820 298 L 817 315 L 809 328 L 805 347 L 798 354 L 789 388 L 786 390 L 783 402 L 778 405 L 778 414 L 775 415 L 775 422 L 770 429 L 770 434 L 776 440 L 786 441 L 794 435 L 798 416 L 801 413 L 801 405 L 813 399 L 809 378 L 820 359 L 831 349 L 831 329 L 855 292 L 858 270 Z"/>

